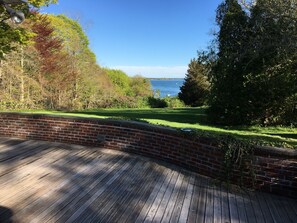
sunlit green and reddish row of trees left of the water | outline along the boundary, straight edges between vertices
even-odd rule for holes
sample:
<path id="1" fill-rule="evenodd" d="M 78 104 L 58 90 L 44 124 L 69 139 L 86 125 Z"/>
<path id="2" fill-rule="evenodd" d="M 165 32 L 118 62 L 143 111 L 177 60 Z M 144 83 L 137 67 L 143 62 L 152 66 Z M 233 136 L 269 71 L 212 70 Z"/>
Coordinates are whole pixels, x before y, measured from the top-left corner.
<path id="1" fill-rule="evenodd" d="M 150 81 L 100 67 L 77 21 L 64 15 L 29 17 L 19 27 L 0 22 L 0 42 L 6 41 L 0 48 L 0 109 L 149 106 Z"/>

